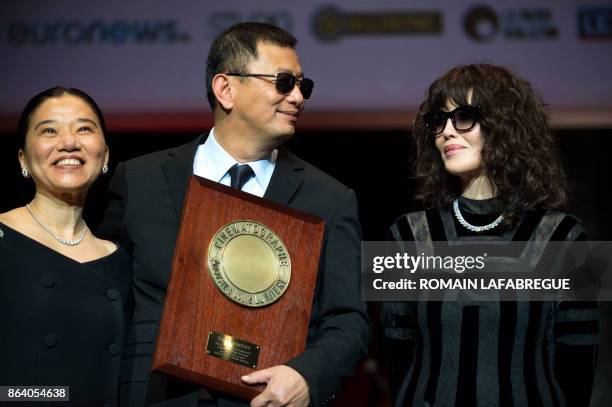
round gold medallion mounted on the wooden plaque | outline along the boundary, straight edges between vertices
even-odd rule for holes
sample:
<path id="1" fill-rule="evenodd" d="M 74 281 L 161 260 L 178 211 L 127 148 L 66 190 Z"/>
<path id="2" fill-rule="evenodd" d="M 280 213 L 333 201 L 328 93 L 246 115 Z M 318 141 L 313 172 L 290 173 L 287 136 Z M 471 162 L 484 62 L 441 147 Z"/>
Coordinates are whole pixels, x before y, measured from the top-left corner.
<path id="1" fill-rule="evenodd" d="M 251 220 L 223 226 L 208 247 L 208 271 L 230 300 L 263 307 L 278 300 L 291 279 L 291 259 L 269 227 Z"/>

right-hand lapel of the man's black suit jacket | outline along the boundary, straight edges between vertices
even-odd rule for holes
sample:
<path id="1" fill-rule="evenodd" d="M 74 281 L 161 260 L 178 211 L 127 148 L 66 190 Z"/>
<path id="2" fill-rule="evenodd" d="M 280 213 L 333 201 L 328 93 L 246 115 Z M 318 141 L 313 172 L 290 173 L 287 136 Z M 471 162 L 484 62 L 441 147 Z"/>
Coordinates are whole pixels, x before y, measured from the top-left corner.
<path id="1" fill-rule="evenodd" d="M 264 198 L 287 205 L 304 181 L 304 166 L 289 150 L 280 147 Z"/>

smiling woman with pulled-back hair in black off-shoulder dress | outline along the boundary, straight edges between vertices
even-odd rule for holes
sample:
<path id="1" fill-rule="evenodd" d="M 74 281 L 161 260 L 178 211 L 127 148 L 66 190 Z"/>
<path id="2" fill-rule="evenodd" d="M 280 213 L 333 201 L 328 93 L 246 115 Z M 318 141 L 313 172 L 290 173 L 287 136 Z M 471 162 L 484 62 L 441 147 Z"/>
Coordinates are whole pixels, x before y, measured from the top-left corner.
<path id="1" fill-rule="evenodd" d="M 19 120 L 32 201 L 0 214 L 0 385 L 69 386 L 69 405 L 117 404 L 131 270 L 81 217 L 108 171 L 100 109 L 78 89 L 34 96 Z"/>

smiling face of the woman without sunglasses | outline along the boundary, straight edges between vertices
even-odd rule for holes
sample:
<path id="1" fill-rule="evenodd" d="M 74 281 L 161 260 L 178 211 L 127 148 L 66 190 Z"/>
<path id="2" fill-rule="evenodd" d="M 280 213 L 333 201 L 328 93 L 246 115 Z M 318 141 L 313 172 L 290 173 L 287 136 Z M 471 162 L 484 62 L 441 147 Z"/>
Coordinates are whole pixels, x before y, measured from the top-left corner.
<path id="1" fill-rule="evenodd" d="M 45 100 L 32 113 L 19 162 L 37 193 L 86 193 L 108 162 L 108 147 L 98 117 L 77 96 Z"/>

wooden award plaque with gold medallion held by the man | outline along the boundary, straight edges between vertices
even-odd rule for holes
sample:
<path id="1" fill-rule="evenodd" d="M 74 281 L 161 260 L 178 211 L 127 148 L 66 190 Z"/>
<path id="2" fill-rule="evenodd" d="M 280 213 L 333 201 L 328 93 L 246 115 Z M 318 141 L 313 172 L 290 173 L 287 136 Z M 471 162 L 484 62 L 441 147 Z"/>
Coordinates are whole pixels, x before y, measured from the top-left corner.
<path id="1" fill-rule="evenodd" d="M 152 369 L 250 400 L 304 351 L 324 221 L 192 176 Z"/>

